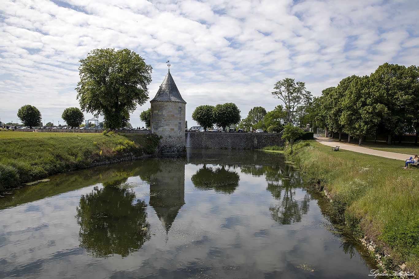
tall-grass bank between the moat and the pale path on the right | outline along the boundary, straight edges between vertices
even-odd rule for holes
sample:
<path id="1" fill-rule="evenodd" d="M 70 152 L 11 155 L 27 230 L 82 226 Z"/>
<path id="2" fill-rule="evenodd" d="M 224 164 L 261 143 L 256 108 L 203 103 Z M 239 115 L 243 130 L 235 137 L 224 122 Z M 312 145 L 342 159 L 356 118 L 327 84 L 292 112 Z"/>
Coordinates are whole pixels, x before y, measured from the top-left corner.
<path id="1" fill-rule="evenodd" d="M 325 190 L 330 211 L 357 238 L 373 245 L 386 270 L 419 274 L 419 171 L 395 159 L 342 150 L 315 141 L 285 150 L 305 181 Z M 404 153 L 404 152 L 401 152 Z M 406 152 L 408 153 L 408 152 Z M 386 257 L 383 257 L 383 256 Z"/>

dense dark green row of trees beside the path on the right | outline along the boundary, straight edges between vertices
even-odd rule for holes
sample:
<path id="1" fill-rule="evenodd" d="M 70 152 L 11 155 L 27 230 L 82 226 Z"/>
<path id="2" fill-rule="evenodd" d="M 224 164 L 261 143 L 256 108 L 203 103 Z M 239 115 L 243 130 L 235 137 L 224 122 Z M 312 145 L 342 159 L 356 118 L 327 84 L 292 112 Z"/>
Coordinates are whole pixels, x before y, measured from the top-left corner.
<path id="1" fill-rule="evenodd" d="M 385 63 L 369 76 L 346 77 L 322 91 L 318 125 L 359 138 L 416 133 L 419 128 L 419 68 Z"/>

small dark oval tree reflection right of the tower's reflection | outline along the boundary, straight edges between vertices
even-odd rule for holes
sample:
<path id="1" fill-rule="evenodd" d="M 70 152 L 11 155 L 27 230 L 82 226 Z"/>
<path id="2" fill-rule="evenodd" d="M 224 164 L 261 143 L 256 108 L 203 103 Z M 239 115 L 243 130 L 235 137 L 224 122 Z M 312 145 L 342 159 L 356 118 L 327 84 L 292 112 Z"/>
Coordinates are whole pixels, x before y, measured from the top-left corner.
<path id="1" fill-rule="evenodd" d="M 230 167 L 225 169 L 226 165 L 221 167 L 207 167 L 204 164 L 191 177 L 191 181 L 195 187 L 202 190 L 214 189 L 216 192 L 222 192 L 225 194 L 232 194 L 238 187 L 240 176 L 235 171 L 230 171 Z"/>

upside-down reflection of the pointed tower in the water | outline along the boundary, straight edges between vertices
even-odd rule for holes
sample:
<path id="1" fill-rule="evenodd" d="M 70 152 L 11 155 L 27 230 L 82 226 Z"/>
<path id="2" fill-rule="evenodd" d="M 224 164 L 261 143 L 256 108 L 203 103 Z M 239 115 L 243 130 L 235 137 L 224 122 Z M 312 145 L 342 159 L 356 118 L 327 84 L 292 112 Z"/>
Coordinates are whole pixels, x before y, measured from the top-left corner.
<path id="1" fill-rule="evenodd" d="M 160 159 L 160 171 L 150 177 L 150 202 L 166 234 L 185 204 L 185 162 Z"/>

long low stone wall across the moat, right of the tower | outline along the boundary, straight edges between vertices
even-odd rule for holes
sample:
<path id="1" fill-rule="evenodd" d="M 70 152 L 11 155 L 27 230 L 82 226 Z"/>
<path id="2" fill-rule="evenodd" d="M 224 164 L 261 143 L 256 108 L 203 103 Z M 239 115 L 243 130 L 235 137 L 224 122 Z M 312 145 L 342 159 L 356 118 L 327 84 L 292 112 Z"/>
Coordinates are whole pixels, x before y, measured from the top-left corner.
<path id="1" fill-rule="evenodd" d="M 222 149 L 261 149 L 284 146 L 282 133 L 186 132 L 186 147 Z"/>

